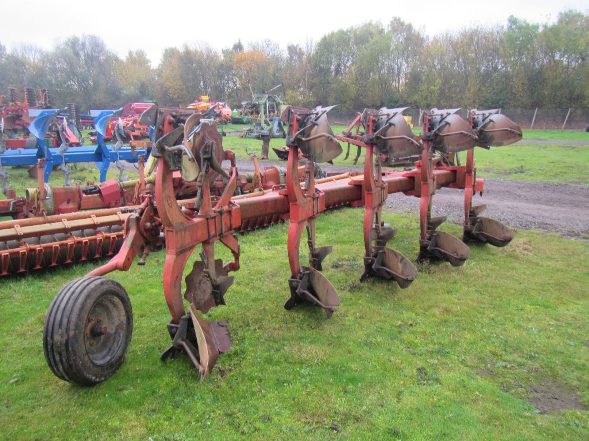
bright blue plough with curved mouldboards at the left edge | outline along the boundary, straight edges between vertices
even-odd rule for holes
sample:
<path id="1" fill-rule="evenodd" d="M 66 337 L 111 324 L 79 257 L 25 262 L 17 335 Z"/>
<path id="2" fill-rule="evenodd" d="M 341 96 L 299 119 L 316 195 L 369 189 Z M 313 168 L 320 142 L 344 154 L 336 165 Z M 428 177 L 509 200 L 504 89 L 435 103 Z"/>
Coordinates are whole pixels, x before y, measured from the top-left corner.
<path id="1" fill-rule="evenodd" d="M 124 134 L 122 129 L 115 129 L 115 138 L 117 142 L 114 145 L 105 143 L 105 131 L 108 121 L 115 115 L 115 111 L 101 111 L 94 120 L 96 128 L 97 145 L 85 146 L 68 146 L 67 142 L 62 142 L 59 147 L 47 147 L 45 145 L 45 134 L 51 125 L 52 120 L 57 116 L 59 110 L 49 109 L 39 112 L 37 118 L 29 126 L 31 135 L 37 138 L 36 149 L 11 149 L 6 150 L 0 144 L 0 179 L 2 179 L 2 192 L 6 192 L 6 181 L 8 181 L 8 171 L 6 166 L 31 166 L 36 165 L 39 159 L 45 159 L 44 181 L 49 181 L 51 171 L 55 165 L 61 165 L 61 170 L 65 173 L 64 185 L 71 185 L 69 182 L 71 168 L 68 163 L 75 162 L 94 162 L 100 171 L 100 182 L 106 181 L 107 171 L 114 162 L 119 169 L 119 181 L 123 181 L 123 162 L 137 162 L 139 155 L 149 156 L 151 148 L 134 149 L 130 146 L 123 145 Z"/>

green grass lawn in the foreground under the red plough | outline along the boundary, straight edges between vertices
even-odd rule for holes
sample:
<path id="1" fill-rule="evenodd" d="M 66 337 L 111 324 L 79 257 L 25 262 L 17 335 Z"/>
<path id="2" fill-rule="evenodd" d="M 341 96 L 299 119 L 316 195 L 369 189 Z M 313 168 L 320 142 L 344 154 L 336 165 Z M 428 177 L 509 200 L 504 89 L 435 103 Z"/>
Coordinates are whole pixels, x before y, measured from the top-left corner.
<path id="1" fill-rule="evenodd" d="M 358 282 L 362 216 L 339 209 L 317 222 L 317 244 L 335 248 L 324 273 L 342 297 L 329 320 L 311 306 L 283 309 L 286 224 L 240 236 L 228 305 L 207 314 L 229 320 L 233 348 L 200 385 L 186 357 L 158 359 L 170 343 L 164 252 L 112 274 L 135 329 L 121 369 L 95 387 L 58 380 L 42 350 L 49 302 L 92 265 L 0 280 L 0 437 L 589 438 L 587 242 L 518 231 L 506 248 L 471 246 L 461 268 L 424 265 L 400 290 Z M 389 245 L 415 259 L 415 216 L 385 220 L 399 228 Z M 547 396 L 574 409 L 543 413 Z"/>

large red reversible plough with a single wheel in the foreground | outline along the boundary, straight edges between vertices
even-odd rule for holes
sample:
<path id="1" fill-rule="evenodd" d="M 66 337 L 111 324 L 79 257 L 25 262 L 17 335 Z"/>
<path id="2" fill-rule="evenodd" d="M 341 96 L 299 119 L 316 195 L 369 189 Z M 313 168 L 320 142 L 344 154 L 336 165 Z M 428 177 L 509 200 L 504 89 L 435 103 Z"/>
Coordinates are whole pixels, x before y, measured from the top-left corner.
<path id="1" fill-rule="evenodd" d="M 358 130 L 334 136 L 327 122 L 331 108 L 287 108 L 289 148 L 286 179 L 272 188 L 255 188 L 249 195 L 234 196 L 239 173 L 232 152 L 223 151 L 216 123 L 200 113 L 159 109 L 150 118 L 158 133 L 153 155 L 157 157 L 155 193 L 145 192 L 136 212 L 125 220 L 120 251 L 110 262 L 74 280 L 55 296 L 44 325 L 45 357 L 61 379 L 81 385 L 100 383 L 124 360 L 133 330 L 133 313 L 127 292 L 104 276 L 112 270 L 128 270 L 135 256 L 166 242 L 163 291 L 171 320 L 167 328 L 171 345 L 161 356 L 174 358 L 186 353 L 200 373 L 208 376 L 219 357 L 231 347 L 227 322 L 207 322 L 201 314 L 226 303 L 233 283 L 230 272 L 239 270 L 240 246 L 236 232 L 244 225 L 269 219 L 289 219 L 287 251 L 291 274 L 290 297 L 284 307 L 310 302 L 323 308 L 327 317 L 336 312 L 340 298 L 321 272 L 331 246 L 315 246 L 315 224 L 320 213 L 339 205 L 365 207 L 364 264 L 361 280 L 382 277 L 408 288 L 417 276 L 413 263 L 388 248 L 395 230 L 382 220 L 382 206 L 389 193 L 403 192 L 421 199 L 419 259 L 442 259 L 462 265 L 468 247 L 462 240 L 436 230 L 444 218 L 432 218 L 432 196 L 441 187 L 465 189 L 464 239 L 507 245 L 513 233 L 499 222 L 478 216 L 472 207 L 475 191 L 482 191 L 476 179 L 472 149 L 475 146 L 506 145 L 521 139 L 521 131 L 504 115 L 494 111 L 471 111 L 467 123 L 458 109 L 425 112 L 423 135 L 414 136 L 402 117 L 404 109 L 366 109 L 359 114 Z M 161 112 L 160 112 L 161 111 Z M 360 127 L 363 131 L 360 132 Z M 315 163 L 330 161 L 342 152 L 338 141 L 366 149 L 364 173 L 345 173 L 316 179 Z M 466 166 L 435 162 L 434 151 L 468 151 Z M 306 159 L 300 165 L 299 152 Z M 383 171 L 382 161 L 421 153 L 411 171 Z M 231 162 L 229 171 L 221 168 Z M 434 165 L 435 164 L 435 165 Z M 196 197 L 179 201 L 174 173 L 197 187 Z M 224 182 L 219 196 L 211 188 Z M 301 182 L 301 179 L 303 182 Z M 265 220 L 260 220 L 265 219 Z M 309 266 L 299 264 L 299 245 L 306 229 Z M 223 264 L 215 259 L 217 242 L 230 249 L 233 260 Z M 200 245 L 200 260 L 185 279 L 183 270 Z M 286 287 L 286 283 L 285 283 Z M 184 300 L 188 302 L 188 308 Z"/>

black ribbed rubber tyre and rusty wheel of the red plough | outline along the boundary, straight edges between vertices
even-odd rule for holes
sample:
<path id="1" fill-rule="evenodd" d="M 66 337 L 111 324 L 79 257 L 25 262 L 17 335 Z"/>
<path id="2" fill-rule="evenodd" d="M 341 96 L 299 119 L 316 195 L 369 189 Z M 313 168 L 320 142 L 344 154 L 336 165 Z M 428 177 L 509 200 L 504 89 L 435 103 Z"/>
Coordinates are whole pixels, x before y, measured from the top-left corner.
<path id="1" fill-rule="evenodd" d="M 98 276 L 73 280 L 47 310 L 45 359 L 62 380 L 95 385 L 120 368 L 132 333 L 131 301 L 120 283 Z"/>

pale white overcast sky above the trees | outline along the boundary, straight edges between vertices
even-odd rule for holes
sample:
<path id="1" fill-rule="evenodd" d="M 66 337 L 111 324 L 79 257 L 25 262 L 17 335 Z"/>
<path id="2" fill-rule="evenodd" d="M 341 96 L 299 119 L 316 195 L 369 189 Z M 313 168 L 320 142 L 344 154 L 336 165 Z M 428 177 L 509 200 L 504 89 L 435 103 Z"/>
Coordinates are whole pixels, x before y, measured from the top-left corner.
<path id="1" fill-rule="evenodd" d="M 296 9 L 293 6 L 296 5 Z M 144 49 L 157 65 L 164 48 L 209 42 L 216 49 L 241 39 L 288 43 L 317 41 L 340 28 L 393 16 L 428 35 L 472 25 L 506 24 L 509 15 L 553 22 L 565 9 L 589 11 L 589 0 L 397 1 L 2 1 L 0 43 L 51 49 L 70 35 L 95 34 L 120 56 Z M 14 17 L 14 19 L 10 19 Z"/>

